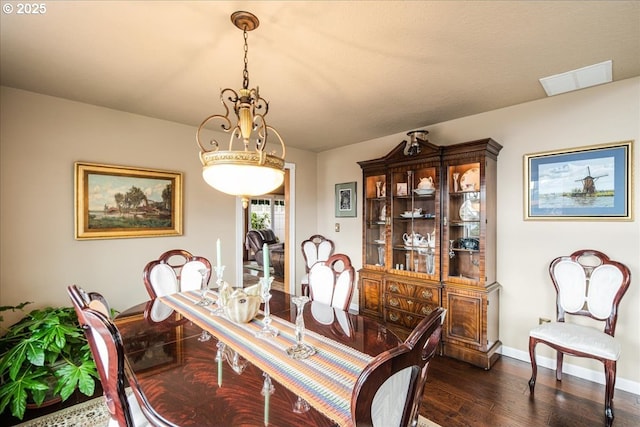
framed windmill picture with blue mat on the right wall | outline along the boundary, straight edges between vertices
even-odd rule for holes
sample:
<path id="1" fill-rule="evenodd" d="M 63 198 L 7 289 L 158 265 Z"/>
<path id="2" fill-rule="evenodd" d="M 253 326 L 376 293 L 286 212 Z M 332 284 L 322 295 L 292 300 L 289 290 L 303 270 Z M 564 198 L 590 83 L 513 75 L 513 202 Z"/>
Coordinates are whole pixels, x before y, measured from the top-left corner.
<path id="1" fill-rule="evenodd" d="M 526 154 L 524 219 L 632 220 L 632 143 Z"/>

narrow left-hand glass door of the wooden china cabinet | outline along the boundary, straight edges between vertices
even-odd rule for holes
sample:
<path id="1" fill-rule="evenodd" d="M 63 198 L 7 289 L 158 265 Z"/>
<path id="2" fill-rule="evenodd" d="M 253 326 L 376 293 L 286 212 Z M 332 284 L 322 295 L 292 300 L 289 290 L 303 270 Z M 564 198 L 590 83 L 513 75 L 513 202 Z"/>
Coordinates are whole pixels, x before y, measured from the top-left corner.
<path id="1" fill-rule="evenodd" d="M 387 179 L 386 175 L 365 177 L 364 264 L 384 268 L 386 258 Z"/>

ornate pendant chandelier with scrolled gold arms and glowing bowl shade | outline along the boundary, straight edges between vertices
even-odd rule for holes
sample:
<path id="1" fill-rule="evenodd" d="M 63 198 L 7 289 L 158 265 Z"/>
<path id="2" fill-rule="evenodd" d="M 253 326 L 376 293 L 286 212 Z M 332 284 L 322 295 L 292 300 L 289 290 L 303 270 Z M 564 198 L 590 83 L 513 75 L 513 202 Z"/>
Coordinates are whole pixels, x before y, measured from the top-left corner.
<path id="1" fill-rule="evenodd" d="M 227 88 L 220 92 L 225 114 L 214 114 L 204 119 L 196 132 L 196 142 L 200 147 L 202 177 L 206 183 L 223 193 L 239 196 L 246 208 L 251 196 L 269 193 L 282 185 L 285 146 L 278 131 L 265 120 L 269 103 L 260 97 L 257 86 L 249 89 L 247 32 L 256 29 L 260 21 L 252 13 L 238 11 L 231 15 L 231 22 L 244 35 L 242 89 L 236 92 Z M 229 116 L 231 110 L 235 114 L 235 124 Z M 230 134 L 227 150 L 221 149 L 215 139 L 209 141 L 209 149 L 202 143 L 202 130 L 216 120 L 221 122 L 221 129 Z M 272 135 L 280 143 L 278 151 L 267 150 L 268 138 Z M 238 147 L 234 149 L 234 145 Z"/>

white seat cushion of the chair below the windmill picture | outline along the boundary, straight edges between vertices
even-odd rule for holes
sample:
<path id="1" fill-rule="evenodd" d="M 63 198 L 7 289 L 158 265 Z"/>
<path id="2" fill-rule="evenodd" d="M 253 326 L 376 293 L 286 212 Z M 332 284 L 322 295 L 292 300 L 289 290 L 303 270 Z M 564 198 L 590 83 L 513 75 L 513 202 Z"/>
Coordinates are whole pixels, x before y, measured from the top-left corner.
<path id="1" fill-rule="evenodd" d="M 589 326 L 566 322 L 544 323 L 529 332 L 529 336 L 596 357 L 618 360 L 620 344 L 614 337 Z"/>

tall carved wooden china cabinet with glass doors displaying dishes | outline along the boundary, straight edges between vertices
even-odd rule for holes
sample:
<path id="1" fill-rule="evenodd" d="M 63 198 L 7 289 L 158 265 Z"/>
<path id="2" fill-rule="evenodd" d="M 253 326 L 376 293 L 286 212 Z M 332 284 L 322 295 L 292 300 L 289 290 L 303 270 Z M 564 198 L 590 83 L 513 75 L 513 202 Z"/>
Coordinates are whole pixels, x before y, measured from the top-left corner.
<path id="1" fill-rule="evenodd" d="M 360 312 L 400 337 L 447 309 L 443 352 L 489 369 L 499 357 L 496 171 L 491 139 L 438 147 L 409 132 L 363 172 Z"/>

